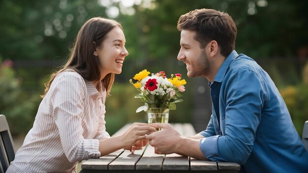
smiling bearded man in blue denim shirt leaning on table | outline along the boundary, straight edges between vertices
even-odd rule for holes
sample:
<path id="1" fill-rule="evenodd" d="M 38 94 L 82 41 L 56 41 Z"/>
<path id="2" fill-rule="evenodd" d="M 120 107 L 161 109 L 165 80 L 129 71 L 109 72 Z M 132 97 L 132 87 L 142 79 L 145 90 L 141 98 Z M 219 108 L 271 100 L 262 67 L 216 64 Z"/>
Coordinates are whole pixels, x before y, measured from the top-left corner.
<path id="1" fill-rule="evenodd" d="M 308 152 L 269 75 L 235 49 L 232 18 L 213 9 L 197 9 L 178 21 L 181 50 L 189 78 L 209 80 L 211 120 L 206 130 L 183 137 L 169 124 L 146 139 L 159 154 L 236 162 L 241 172 L 308 173 Z"/>

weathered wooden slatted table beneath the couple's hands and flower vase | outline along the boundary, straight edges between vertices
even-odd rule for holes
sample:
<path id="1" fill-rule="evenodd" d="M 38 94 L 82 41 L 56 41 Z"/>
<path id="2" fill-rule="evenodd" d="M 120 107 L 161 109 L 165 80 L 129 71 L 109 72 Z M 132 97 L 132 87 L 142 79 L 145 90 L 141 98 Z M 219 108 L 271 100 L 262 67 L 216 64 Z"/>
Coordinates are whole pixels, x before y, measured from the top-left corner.
<path id="1" fill-rule="evenodd" d="M 113 136 L 123 134 L 131 124 L 126 124 Z M 196 134 L 191 124 L 171 124 L 180 134 Z M 82 163 L 80 173 L 238 173 L 241 166 L 237 163 L 211 162 L 196 160 L 178 154 L 155 154 L 154 147 L 144 146 L 131 154 L 128 150 L 119 150 L 98 159 L 89 159 Z"/>

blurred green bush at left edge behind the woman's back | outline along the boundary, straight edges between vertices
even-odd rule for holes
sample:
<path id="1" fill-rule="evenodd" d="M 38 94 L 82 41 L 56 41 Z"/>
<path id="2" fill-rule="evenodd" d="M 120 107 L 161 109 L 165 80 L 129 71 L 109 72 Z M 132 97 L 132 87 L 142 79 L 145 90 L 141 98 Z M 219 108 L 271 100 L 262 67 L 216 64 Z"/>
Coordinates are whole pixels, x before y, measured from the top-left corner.
<path id="1" fill-rule="evenodd" d="M 40 97 L 22 92 L 22 81 L 15 77 L 12 65 L 8 59 L 0 63 L 0 114 L 6 116 L 12 135 L 25 135 L 32 127 Z"/>

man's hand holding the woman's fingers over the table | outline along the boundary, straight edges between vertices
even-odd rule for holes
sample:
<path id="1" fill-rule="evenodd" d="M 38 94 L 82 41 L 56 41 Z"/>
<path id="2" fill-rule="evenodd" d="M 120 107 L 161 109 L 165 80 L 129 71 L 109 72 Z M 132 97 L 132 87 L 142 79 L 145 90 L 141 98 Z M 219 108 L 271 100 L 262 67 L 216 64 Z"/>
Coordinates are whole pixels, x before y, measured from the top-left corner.
<path id="1" fill-rule="evenodd" d="M 149 144 L 154 146 L 156 154 L 176 153 L 181 144 L 182 137 L 170 124 L 153 123 L 161 128 L 158 132 L 153 132 L 146 136 Z"/>

